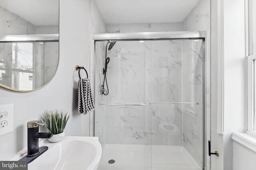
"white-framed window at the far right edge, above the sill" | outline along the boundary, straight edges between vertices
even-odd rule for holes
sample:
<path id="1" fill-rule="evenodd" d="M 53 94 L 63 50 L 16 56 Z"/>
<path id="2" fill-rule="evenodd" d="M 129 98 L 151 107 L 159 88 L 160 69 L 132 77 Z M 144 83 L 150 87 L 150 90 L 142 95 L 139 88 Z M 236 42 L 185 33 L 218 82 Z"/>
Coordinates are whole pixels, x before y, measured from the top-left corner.
<path id="1" fill-rule="evenodd" d="M 247 132 L 256 134 L 256 1 L 248 0 Z"/>

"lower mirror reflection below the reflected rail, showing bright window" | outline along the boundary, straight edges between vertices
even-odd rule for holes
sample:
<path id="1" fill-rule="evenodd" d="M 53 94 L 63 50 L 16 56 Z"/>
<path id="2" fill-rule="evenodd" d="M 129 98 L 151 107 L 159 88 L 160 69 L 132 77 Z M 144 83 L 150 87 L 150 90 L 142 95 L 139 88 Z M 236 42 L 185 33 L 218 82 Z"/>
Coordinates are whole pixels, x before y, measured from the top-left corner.
<path id="1" fill-rule="evenodd" d="M 32 90 L 49 82 L 56 71 L 58 58 L 53 56 L 58 56 L 58 42 L 0 43 L 0 48 L 0 84 Z"/>

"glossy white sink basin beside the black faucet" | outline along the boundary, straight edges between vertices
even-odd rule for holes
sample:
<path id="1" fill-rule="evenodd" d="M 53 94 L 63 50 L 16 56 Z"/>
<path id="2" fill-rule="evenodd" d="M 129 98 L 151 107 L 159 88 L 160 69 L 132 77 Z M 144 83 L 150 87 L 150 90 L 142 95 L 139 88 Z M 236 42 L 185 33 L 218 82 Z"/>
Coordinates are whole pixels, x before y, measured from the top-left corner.
<path id="1" fill-rule="evenodd" d="M 42 155 L 28 164 L 28 170 L 97 170 L 102 148 L 98 137 L 64 137 L 57 143 L 40 141 L 48 146 Z"/>

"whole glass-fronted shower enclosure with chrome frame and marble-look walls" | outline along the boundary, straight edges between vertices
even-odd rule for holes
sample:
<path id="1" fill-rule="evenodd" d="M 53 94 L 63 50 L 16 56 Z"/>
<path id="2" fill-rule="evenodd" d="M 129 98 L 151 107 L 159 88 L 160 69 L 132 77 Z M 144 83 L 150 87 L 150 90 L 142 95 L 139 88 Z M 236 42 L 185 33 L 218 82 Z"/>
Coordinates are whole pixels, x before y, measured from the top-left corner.
<path id="1" fill-rule="evenodd" d="M 204 31 L 93 35 L 96 109 L 91 122 L 92 135 L 102 145 L 98 170 L 207 166 L 206 35 Z M 108 40 L 117 41 L 110 51 Z M 102 95 L 104 76 L 108 95 Z"/>

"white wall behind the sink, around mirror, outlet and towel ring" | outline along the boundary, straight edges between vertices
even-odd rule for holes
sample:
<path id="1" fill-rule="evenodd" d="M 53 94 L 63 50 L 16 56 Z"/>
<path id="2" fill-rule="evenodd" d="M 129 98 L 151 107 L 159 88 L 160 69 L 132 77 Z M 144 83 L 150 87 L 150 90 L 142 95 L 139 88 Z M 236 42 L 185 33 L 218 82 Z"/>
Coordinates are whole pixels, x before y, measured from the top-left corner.
<path id="1" fill-rule="evenodd" d="M 14 131 L 0 136 L 0 160 L 27 145 L 27 121 L 38 119 L 46 109 L 73 112 L 66 135 L 88 136 L 89 115 L 77 113 L 78 72 L 75 65 L 89 68 L 90 0 L 60 1 L 60 65 L 46 87 L 18 93 L 0 88 L 0 104 L 14 104 Z"/>

